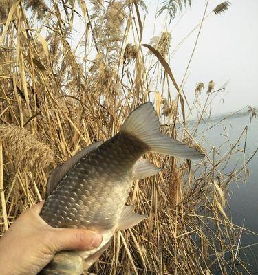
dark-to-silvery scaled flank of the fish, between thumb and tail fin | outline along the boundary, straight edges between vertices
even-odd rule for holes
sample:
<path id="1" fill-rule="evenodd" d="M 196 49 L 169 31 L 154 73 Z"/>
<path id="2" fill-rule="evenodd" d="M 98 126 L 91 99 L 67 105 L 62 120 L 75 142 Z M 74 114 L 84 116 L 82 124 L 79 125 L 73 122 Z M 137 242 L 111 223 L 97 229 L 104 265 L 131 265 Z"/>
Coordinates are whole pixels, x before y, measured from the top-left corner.
<path id="1" fill-rule="evenodd" d="M 53 227 L 113 228 L 131 188 L 130 168 L 144 151 L 144 144 L 115 135 L 69 170 L 45 201 L 41 217 Z"/>

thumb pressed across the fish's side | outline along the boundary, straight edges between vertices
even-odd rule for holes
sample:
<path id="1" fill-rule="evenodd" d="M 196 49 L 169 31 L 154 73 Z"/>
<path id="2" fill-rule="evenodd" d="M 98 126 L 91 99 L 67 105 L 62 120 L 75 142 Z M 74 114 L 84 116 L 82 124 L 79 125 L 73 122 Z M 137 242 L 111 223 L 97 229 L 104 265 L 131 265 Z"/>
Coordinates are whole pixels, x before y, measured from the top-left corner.
<path id="1" fill-rule="evenodd" d="M 62 250 L 92 250 L 102 242 L 102 236 L 84 229 L 56 228 L 51 234 L 55 252 Z"/>

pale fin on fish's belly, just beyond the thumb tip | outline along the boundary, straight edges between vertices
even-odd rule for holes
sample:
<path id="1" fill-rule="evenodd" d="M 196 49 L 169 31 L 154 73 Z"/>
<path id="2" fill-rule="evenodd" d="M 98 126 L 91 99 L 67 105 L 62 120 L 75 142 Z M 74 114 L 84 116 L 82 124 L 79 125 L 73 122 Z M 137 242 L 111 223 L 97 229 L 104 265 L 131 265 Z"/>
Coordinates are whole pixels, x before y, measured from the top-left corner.
<path id="1" fill-rule="evenodd" d="M 121 217 L 118 221 L 118 227 L 116 228 L 116 231 L 131 228 L 146 218 L 147 218 L 147 215 L 134 213 L 133 206 L 125 206 L 122 211 Z"/>

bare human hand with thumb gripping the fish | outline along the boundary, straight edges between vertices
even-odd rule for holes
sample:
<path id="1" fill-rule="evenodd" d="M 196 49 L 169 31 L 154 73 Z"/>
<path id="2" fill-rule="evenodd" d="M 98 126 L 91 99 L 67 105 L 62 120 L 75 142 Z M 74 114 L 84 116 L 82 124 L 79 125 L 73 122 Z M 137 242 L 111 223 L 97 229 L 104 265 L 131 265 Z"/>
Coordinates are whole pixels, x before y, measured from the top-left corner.
<path id="1" fill-rule="evenodd" d="M 91 250 L 102 237 L 89 230 L 52 228 L 39 216 L 43 201 L 23 212 L 0 239 L 1 275 L 36 275 L 62 250 Z"/>

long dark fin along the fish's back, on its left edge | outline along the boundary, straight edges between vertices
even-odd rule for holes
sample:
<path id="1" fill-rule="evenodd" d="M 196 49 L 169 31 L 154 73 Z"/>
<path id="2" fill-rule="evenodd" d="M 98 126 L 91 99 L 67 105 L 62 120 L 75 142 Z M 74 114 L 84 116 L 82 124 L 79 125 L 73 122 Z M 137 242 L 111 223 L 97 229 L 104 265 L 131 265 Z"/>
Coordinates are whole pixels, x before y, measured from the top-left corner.
<path id="1" fill-rule="evenodd" d="M 76 153 L 73 157 L 68 159 L 66 162 L 64 162 L 61 166 L 58 166 L 54 169 L 52 174 L 50 175 L 50 178 L 47 181 L 47 190 L 46 190 L 46 197 L 49 196 L 53 190 L 56 188 L 58 183 L 65 177 L 65 174 L 72 168 L 74 165 L 80 161 L 85 155 L 88 155 L 89 153 L 93 152 L 103 144 L 103 142 L 95 142 L 94 144 L 91 144 L 84 148 L 82 151 Z"/>

